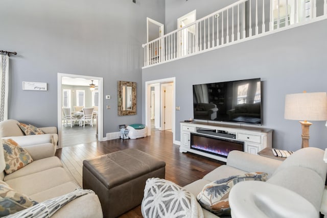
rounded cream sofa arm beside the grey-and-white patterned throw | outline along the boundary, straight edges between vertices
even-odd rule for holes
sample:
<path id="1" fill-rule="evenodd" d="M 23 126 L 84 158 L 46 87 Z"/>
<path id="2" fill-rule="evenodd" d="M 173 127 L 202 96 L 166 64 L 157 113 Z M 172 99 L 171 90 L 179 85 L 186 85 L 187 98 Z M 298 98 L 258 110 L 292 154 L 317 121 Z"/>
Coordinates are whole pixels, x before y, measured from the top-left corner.
<path id="1" fill-rule="evenodd" d="M 71 217 L 71 218 L 102 218 L 102 209 L 97 195 L 90 193 L 69 202 L 60 208 L 52 218 Z"/>

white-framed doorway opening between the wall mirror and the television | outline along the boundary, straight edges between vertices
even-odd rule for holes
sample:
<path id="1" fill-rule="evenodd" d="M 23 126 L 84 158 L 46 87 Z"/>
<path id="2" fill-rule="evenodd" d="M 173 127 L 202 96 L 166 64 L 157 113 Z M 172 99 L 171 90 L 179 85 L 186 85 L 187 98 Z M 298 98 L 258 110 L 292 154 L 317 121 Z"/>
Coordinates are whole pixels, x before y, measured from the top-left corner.
<path id="1" fill-rule="evenodd" d="M 165 130 L 167 128 L 170 128 L 172 133 L 173 133 L 173 143 L 178 143 L 175 141 L 175 80 L 176 78 L 166 78 L 166 79 L 160 79 L 160 80 L 153 80 L 153 81 L 147 81 L 145 83 L 145 87 L 146 87 L 146 96 L 145 96 L 145 123 L 148 127 L 151 127 L 151 87 L 154 87 L 154 89 L 152 88 L 152 91 L 154 91 L 154 112 L 155 112 L 155 128 L 159 129 L 159 130 Z M 171 86 L 171 87 L 170 87 Z M 163 102 L 164 100 L 164 95 L 162 94 L 162 89 L 165 87 L 166 89 L 166 93 L 171 93 L 170 97 L 171 100 L 169 100 L 169 102 L 171 102 L 170 104 L 167 103 L 166 105 L 166 111 L 164 112 L 164 110 L 162 110 L 162 107 L 164 107 L 163 105 L 165 104 Z M 168 88 L 167 88 L 168 87 Z M 168 91 L 167 91 L 168 89 Z M 167 100 L 168 101 L 168 100 Z M 162 117 L 163 115 L 166 115 L 166 118 L 171 120 L 170 124 L 163 124 L 163 120 L 164 117 Z M 171 117 L 171 118 L 168 118 Z M 170 127 L 169 127 L 169 126 Z M 148 135 L 151 135 L 151 128 L 148 128 Z"/>

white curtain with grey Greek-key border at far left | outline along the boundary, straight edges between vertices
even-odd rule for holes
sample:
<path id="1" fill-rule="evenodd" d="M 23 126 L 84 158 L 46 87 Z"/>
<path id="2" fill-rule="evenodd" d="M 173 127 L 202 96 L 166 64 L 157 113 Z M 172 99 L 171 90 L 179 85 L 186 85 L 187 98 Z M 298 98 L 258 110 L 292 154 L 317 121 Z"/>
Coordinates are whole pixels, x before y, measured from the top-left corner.
<path id="1" fill-rule="evenodd" d="M 0 55 L 1 68 L 1 107 L 0 121 L 8 119 L 8 77 L 9 77 L 9 56 Z"/>

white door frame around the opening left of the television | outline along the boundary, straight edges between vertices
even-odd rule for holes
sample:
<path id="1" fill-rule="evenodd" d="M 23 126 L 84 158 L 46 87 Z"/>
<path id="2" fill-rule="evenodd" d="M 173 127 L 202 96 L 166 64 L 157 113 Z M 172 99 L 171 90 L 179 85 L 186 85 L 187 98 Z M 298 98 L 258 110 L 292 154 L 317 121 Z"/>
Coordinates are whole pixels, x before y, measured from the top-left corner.
<path id="1" fill-rule="evenodd" d="M 173 133 L 173 143 L 174 144 L 179 144 L 178 141 L 175 140 L 175 117 L 176 117 L 176 111 L 175 111 L 175 104 L 176 104 L 176 77 L 171 77 L 171 78 L 166 78 L 166 79 L 160 79 L 160 80 L 152 80 L 152 81 L 146 81 L 145 82 L 145 123 L 146 126 L 148 127 L 148 135 L 151 135 L 151 84 L 155 83 L 173 83 L 173 104 L 172 104 L 172 133 Z M 156 117 L 157 118 L 157 117 Z"/>

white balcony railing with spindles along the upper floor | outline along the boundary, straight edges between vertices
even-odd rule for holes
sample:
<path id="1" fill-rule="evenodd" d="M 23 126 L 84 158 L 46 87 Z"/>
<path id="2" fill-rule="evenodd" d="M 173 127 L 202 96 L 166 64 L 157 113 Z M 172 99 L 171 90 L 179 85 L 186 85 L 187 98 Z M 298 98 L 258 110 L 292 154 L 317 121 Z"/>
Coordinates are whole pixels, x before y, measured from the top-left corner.
<path id="1" fill-rule="evenodd" d="M 327 0 L 241 0 L 143 44 L 144 66 L 327 18 Z"/>

